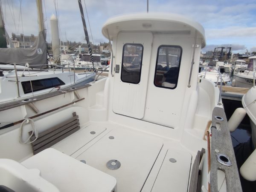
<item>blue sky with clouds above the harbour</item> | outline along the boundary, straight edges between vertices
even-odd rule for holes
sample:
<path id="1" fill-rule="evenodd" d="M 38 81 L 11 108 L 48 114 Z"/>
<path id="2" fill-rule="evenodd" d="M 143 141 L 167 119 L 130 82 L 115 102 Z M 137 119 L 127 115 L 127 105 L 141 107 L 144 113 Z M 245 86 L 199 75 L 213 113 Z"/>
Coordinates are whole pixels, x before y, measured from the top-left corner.
<path id="1" fill-rule="evenodd" d="M 12 32 L 25 35 L 38 34 L 35 0 L 0 0 L 0 2 L 9 35 Z M 81 0 L 81 2 L 90 41 L 94 44 L 108 42 L 102 35 L 101 29 L 109 17 L 147 11 L 147 0 Z M 51 42 L 49 20 L 52 14 L 57 13 L 61 40 L 85 43 L 77 0 L 42 0 L 42 3 L 48 42 Z M 148 9 L 149 12 L 182 14 L 200 23 L 205 29 L 207 43 L 202 52 L 220 46 L 231 46 L 233 53 L 244 53 L 247 50 L 256 52 L 256 0 L 149 0 Z"/>

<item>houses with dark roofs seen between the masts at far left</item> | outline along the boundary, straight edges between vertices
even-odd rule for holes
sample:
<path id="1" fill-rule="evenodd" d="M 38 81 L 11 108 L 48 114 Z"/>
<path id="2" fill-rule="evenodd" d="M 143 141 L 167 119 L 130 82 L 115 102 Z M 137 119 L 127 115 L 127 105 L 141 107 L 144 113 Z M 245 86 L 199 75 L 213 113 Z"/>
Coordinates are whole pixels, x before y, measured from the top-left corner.
<path id="1" fill-rule="evenodd" d="M 16 35 L 12 33 L 11 41 L 15 48 L 29 48 L 34 45 L 37 36 L 31 34 L 30 36 L 26 36 L 23 34 Z"/>

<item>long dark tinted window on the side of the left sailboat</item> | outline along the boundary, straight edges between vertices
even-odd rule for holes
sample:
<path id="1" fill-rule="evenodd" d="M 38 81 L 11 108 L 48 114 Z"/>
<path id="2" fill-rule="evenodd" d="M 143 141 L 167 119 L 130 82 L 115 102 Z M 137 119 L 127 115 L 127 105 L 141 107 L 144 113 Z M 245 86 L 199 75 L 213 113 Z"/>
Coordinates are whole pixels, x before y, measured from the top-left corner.
<path id="1" fill-rule="evenodd" d="M 32 84 L 33 92 L 41 91 L 41 90 L 56 87 L 56 86 L 65 85 L 65 83 L 62 80 L 60 80 L 58 77 L 32 80 L 31 84 Z M 30 84 L 30 81 L 21 82 L 21 85 L 25 94 L 32 92 L 31 84 Z"/>

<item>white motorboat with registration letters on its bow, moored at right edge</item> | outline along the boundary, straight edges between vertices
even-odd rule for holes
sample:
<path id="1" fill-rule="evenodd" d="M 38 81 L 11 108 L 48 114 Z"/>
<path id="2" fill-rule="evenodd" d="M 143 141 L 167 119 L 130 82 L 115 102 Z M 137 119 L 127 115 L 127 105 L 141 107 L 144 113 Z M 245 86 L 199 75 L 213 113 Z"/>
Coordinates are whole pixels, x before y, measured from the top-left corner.
<path id="1" fill-rule="evenodd" d="M 256 68 L 256 56 L 249 57 L 247 70 L 234 73 L 235 79 L 232 81 L 232 86 L 251 88 L 253 86 L 253 72 Z"/>

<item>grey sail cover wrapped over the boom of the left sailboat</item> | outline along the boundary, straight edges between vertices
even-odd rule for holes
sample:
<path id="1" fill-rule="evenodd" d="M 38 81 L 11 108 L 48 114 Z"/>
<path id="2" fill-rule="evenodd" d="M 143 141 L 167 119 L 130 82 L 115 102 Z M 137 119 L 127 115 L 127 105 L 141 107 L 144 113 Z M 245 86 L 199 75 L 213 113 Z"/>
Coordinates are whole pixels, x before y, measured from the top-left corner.
<path id="1" fill-rule="evenodd" d="M 23 64 L 29 63 L 29 67 L 44 69 L 47 67 L 47 45 L 44 32 L 38 34 L 32 47 L 22 48 L 0 48 L 0 64 Z"/>

